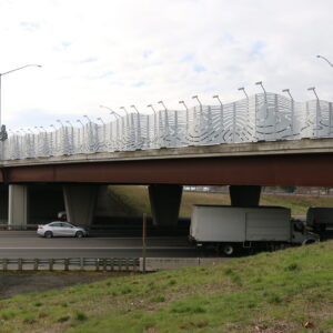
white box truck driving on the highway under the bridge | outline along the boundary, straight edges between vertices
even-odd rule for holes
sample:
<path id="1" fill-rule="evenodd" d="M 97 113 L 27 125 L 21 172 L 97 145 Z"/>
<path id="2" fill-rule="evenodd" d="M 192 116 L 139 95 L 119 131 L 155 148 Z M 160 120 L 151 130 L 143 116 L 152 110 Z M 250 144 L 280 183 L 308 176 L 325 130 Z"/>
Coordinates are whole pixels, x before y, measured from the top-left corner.
<path id="1" fill-rule="evenodd" d="M 319 241 L 317 234 L 291 220 L 290 209 L 280 206 L 192 206 L 190 241 L 232 255 L 240 248 L 279 249 Z"/>

